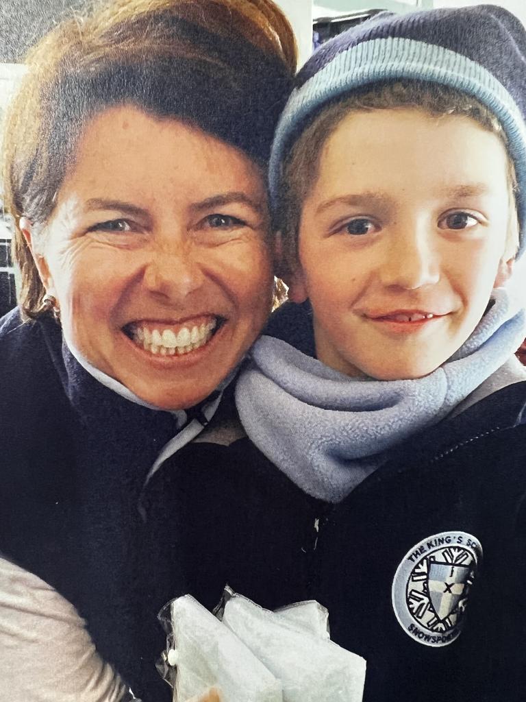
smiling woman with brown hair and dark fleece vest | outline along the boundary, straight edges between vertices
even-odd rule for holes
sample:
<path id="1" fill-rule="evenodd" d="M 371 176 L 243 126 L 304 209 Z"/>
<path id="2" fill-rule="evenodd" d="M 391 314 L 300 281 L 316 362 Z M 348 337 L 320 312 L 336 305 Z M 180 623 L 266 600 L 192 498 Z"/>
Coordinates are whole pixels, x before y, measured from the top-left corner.
<path id="1" fill-rule="evenodd" d="M 158 702 L 156 612 L 202 595 L 233 525 L 187 494 L 174 572 L 148 480 L 213 417 L 269 312 L 264 166 L 294 39 L 271 0 L 114 0 L 28 65 L 4 141 L 22 288 L 0 323 L 1 692 L 119 698 L 78 611 L 97 655 Z M 42 670 L 22 675 L 11 650 Z"/>

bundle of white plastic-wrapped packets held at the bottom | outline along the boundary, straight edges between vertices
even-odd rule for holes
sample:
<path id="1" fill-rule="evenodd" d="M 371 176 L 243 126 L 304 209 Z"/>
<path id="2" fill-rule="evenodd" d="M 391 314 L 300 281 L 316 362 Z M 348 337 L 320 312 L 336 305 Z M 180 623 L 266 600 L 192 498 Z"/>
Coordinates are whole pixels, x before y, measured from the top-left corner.
<path id="1" fill-rule="evenodd" d="M 215 614 L 185 595 L 159 615 L 174 702 L 361 702 L 365 661 L 330 641 L 318 602 L 273 612 L 226 588 Z"/>

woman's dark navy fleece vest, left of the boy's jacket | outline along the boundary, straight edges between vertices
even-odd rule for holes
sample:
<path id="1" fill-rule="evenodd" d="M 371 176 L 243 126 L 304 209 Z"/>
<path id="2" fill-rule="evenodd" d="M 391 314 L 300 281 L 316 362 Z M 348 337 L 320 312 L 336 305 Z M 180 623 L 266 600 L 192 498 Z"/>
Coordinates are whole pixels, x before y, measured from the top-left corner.
<path id="1" fill-rule="evenodd" d="M 0 552 L 75 605 L 134 691 L 160 682 L 162 699 L 166 684 L 146 663 L 162 632 L 154 614 L 144 619 L 137 505 L 172 416 L 89 376 L 53 320 L 21 325 L 12 312 L 0 322 L 0 424 Z"/>

